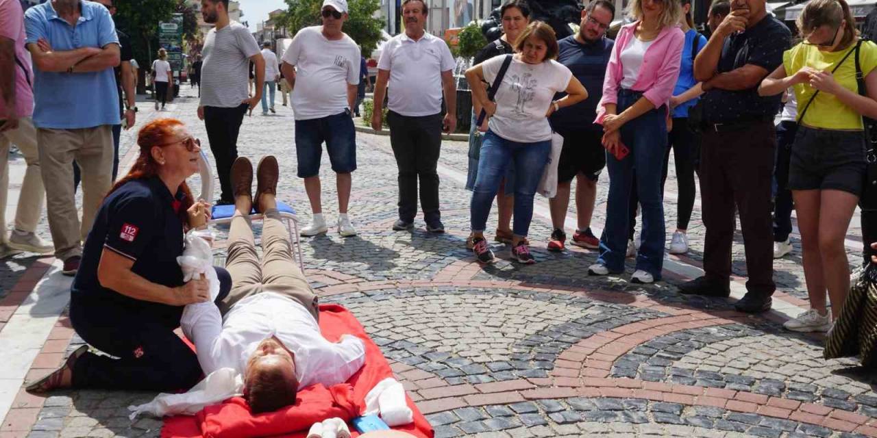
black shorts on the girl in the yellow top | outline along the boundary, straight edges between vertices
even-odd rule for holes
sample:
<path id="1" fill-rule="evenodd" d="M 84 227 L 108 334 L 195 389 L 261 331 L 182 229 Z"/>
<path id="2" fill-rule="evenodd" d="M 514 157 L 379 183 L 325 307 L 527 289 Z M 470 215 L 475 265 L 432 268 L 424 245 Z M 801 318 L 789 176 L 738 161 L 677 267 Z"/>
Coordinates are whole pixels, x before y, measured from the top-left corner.
<path id="1" fill-rule="evenodd" d="M 788 165 L 790 190 L 843 190 L 859 196 L 864 178 L 862 131 L 798 126 Z"/>

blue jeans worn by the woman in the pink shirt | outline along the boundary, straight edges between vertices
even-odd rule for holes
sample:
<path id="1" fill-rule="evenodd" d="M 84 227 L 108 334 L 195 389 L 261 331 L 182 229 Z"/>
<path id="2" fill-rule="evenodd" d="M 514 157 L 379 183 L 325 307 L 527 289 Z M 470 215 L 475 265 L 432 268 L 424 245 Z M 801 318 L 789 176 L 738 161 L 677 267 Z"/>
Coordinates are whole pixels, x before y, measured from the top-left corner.
<path id="1" fill-rule="evenodd" d="M 642 93 L 630 90 L 618 92 L 618 113 L 631 107 Z M 667 151 L 667 108 L 661 106 L 624 124 L 621 141 L 630 149 L 624 159 L 618 160 L 606 153 L 609 169 L 609 199 L 606 202 L 606 226 L 600 237 L 600 257 L 597 263 L 606 265 L 610 272 L 624 271 L 627 251 L 628 208 L 636 169 L 636 190 L 642 208 L 642 244 L 637 255 L 637 269 L 660 279 L 664 263 L 664 203 L 660 193 L 664 153 Z"/>

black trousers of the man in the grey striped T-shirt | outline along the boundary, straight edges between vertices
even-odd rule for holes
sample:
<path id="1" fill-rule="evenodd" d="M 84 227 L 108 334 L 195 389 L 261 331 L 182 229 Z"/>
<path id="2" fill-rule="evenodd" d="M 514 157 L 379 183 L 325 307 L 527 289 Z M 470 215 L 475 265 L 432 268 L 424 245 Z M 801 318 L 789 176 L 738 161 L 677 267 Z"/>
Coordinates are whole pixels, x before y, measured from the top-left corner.
<path id="1" fill-rule="evenodd" d="M 222 189 L 219 199 L 229 203 L 234 203 L 232 163 L 238 158 L 238 134 L 247 108 L 246 103 L 233 108 L 204 107 L 204 126 L 210 151 L 217 160 L 217 177 Z"/>

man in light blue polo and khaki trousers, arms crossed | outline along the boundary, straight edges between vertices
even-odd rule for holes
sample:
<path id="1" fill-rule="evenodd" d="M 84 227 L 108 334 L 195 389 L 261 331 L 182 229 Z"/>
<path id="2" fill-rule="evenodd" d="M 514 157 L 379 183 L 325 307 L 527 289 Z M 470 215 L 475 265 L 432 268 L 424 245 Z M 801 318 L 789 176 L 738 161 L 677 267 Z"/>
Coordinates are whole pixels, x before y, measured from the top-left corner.
<path id="1" fill-rule="evenodd" d="M 74 275 L 82 240 L 112 183 L 112 125 L 120 123 L 116 26 L 102 4 L 52 0 L 27 10 L 25 29 L 49 230 L 63 273 Z M 82 168 L 82 223 L 71 184 L 74 159 Z"/>

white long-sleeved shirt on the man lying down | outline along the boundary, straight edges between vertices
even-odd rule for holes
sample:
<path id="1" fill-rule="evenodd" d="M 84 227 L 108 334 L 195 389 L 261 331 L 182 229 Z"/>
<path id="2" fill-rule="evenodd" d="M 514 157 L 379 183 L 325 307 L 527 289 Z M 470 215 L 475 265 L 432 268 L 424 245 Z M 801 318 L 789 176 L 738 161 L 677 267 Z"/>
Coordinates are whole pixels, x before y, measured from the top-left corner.
<path id="1" fill-rule="evenodd" d="M 344 383 L 366 361 L 366 347 L 356 336 L 330 343 L 314 317 L 299 303 L 263 292 L 240 300 L 225 314 L 213 303 L 186 306 L 182 332 L 195 343 L 205 375 L 232 368 L 244 375 L 247 359 L 260 342 L 276 336 L 295 354 L 299 386 Z"/>

